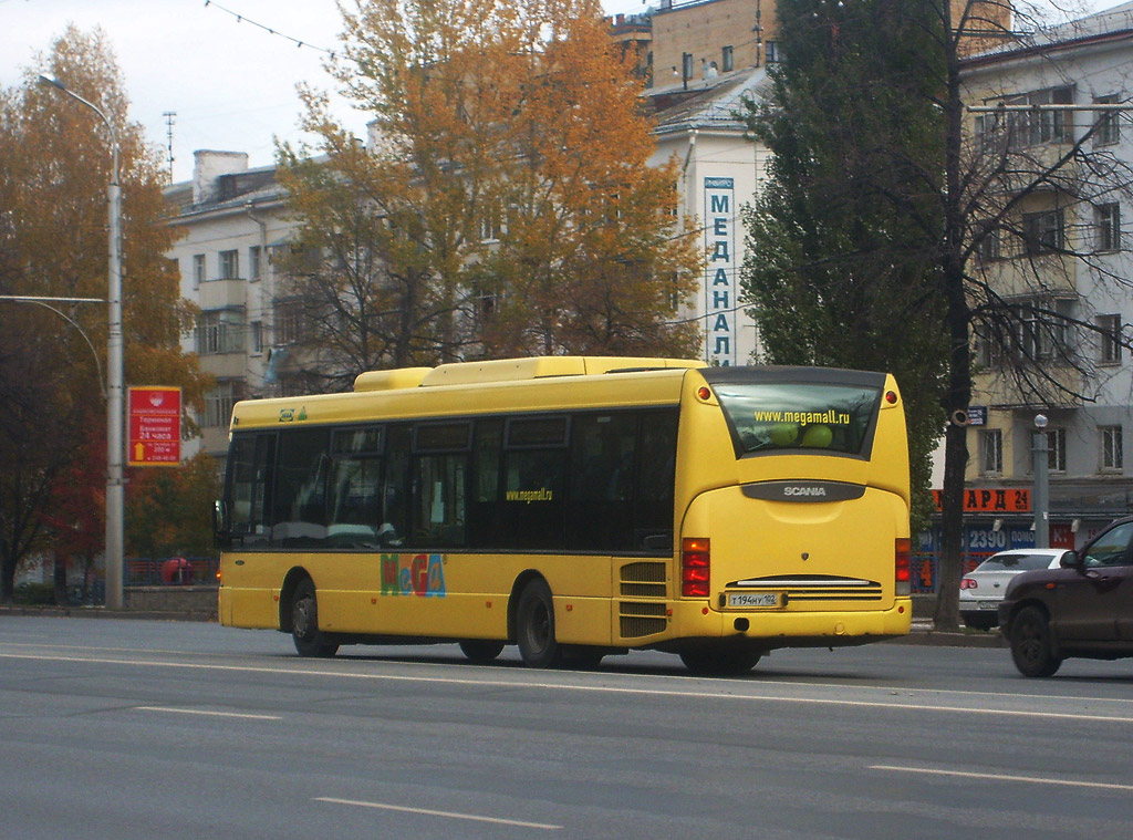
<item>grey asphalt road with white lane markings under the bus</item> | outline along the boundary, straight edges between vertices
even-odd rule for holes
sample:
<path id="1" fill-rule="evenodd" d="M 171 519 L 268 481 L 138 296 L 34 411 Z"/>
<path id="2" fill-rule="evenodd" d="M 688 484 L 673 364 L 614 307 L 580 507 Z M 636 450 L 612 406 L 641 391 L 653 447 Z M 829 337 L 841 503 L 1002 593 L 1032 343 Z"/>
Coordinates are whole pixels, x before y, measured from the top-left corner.
<path id="1" fill-rule="evenodd" d="M 0 838 L 1122 838 L 1133 661 L 780 651 L 530 671 L 0 614 Z"/>

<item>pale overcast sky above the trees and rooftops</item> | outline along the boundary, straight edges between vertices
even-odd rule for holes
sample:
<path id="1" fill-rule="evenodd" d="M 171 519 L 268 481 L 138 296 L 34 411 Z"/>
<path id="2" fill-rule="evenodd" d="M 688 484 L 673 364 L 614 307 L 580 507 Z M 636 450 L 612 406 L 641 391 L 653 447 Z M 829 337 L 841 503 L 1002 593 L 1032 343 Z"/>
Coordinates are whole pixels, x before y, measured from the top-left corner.
<path id="1" fill-rule="evenodd" d="M 1090 9 L 1118 5 L 1074 1 Z M 603 6 L 610 14 L 646 8 L 641 0 L 603 0 Z M 131 118 L 146 127 L 163 158 L 164 114 L 176 113 L 174 180 L 191 177 L 193 152 L 199 149 L 247 152 L 250 166 L 270 164 L 274 137 L 303 136 L 296 84 L 334 87 L 323 69 L 326 51 L 339 45 L 334 0 L 0 0 L 0 85 L 18 84 L 27 68 L 39 70 L 39 57 L 68 23 L 105 31 L 126 79 Z M 364 116 L 344 104 L 337 113 L 364 135 Z"/>

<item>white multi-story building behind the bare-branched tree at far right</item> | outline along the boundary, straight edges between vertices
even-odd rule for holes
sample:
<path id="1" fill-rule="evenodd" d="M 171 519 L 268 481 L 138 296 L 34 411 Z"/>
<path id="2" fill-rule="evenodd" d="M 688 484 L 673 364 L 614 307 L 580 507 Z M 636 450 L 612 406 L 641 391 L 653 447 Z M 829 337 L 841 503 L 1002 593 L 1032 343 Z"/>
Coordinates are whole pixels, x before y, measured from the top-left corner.
<path id="1" fill-rule="evenodd" d="M 1002 117 L 1011 121 L 1008 142 L 1025 146 L 1031 160 L 1055 161 L 1093 131 L 1083 146 L 1094 155 L 1088 177 L 1098 183 L 1097 164 L 1111 170 L 1089 201 L 1072 200 L 1053 185 L 1028 196 L 1013 226 L 1022 235 L 991 239 L 981 254 L 997 292 L 1023 317 L 1010 340 L 979 337 L 968 432 L 965 478 L 976 508 L 969 516 L 968 546 L 1033 544 L 1033 511 L 994 502 L 1010 502 L 1012 490 L 1029 491 L 1034 483 L 1032 442 L 1036 416 L 1042 414 L 1048 422 L 1050 542 L 1074 548 L 1113 518 L 1133 512 L 1133 359 L 1123 347 L 1133 321 L 1133 235 L 1123 223 L 1133 218 L 1133 170 L 1126 169 L 1133 164 L 1133 125 L 1130 111 L 1094 109 L 1127 105 L 1133 97 L 1133 3 L 1051 28 L 1028 48 L 972 57 L 964 83 L 969 104 L 1038 107 Z M 1047 104 L 1081 110 L 1043 109 Z M 999 116 L 973 114 L 973 137 L 993 118 Z M 1075 167 L 1083 163 L 1066 164 L 1062 175 L 1087 178 Z M 1056 347 L 1063 343 L 1057 332 L 1029 328 L 1025 313 L 1039 308 L 1097 328 L 1066 330 L 1074 365 Z M 1019 364 L 1041 368 L 1068 390 L 1059 397 L 1047 389 L 1039 397 L 1021 388 L 1012 375 Z"/>

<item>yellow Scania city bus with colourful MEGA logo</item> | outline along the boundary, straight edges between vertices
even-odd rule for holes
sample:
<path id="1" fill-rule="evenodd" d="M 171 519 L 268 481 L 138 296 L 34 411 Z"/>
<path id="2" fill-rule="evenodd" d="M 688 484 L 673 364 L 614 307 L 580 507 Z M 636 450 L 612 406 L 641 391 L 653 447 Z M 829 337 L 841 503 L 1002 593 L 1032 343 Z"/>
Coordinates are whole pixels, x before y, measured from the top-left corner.
<path id="1" fill-rule="evenodd" d="M 742 673 L 912 614 L 904 411 L 881 373 L 544 357 L 241 401 L 216 536 L 221 623 L 305 656 L 651 648 Z"/>

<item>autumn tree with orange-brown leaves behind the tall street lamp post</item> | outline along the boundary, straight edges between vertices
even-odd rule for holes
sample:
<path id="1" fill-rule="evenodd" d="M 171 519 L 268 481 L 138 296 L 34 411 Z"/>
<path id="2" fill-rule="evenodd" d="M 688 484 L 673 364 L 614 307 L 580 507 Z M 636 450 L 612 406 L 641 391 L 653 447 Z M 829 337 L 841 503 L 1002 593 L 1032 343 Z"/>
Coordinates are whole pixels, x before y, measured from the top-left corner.
<path id="1" fill-rule="evenodd" d="M 184 307 L 164 257 L 174 232 L 164 223 L 161 164 L 129 121 L 110 46 L 97 29 L 69 27 L 36 67 L 97 104 L 121 147 L 127 383 L 181 385 L 199 404 L 206 383 L 178 342 Z M 109 133 L 36 75 L 0 91 L 0 294 L 105 298 Z M 88 431 L 107 425 L 105 306 L 53 308 L 0 302 L 0 600 L 10 599 L 19 560 L 51 548 L 44 517 L 59 482 L 88 475 L 92 506 L 105 483 L 75 468 Z"/>

